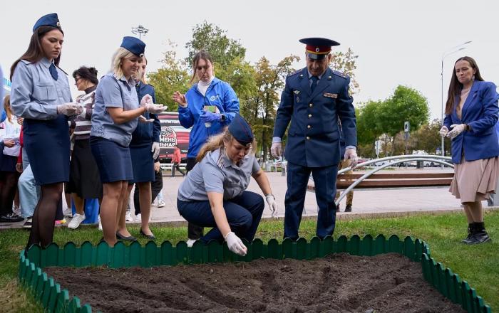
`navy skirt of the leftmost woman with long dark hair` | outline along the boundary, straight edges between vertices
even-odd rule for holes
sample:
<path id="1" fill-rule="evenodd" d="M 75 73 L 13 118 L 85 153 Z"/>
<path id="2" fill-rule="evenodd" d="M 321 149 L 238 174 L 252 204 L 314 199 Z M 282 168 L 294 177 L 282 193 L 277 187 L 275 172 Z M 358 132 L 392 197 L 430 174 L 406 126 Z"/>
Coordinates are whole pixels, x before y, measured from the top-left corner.
<path id="1" fill-rule="evenodd" d="M 24 149 L 38 185 L 69 181 L 68 118 L 58 115 L 55 120 L 23 122 Z"/>

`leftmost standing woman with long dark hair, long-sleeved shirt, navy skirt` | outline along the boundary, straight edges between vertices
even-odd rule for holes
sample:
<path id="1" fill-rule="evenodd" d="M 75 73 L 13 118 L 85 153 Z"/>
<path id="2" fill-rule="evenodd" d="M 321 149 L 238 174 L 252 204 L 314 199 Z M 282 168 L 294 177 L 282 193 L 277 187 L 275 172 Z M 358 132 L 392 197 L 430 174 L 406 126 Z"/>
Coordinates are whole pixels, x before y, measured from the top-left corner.
<path id="1" fill-rule="evenodd" d="M 72 102 L 67 75 L 58 68 L 63 41 L 57 14 L 42 16 L 28 50 L 11 67 L 11 108 L 24 117 L 24 149 L 41 186 L 27 248 L 52 242 L 63 182 L 69 179 L 68 117 L 83 111 Z"/>

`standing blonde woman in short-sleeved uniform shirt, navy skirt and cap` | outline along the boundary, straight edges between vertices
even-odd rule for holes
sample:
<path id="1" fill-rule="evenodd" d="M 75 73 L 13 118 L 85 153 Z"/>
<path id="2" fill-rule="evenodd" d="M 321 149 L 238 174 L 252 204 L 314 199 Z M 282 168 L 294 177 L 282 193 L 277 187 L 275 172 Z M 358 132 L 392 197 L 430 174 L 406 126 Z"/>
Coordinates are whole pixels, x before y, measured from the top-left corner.
<path id="1" fill-rule="evenodd" d="M 138 100 L 134 77 L 144 50 L 145 43 L 140 39 L 123 38 L 113 57 L 112 70 L 98 84 L 92 113 L 90 145 L 103 183 L 100 215 L 104 240 L 111 247 L 116 243 L 118 218 L 127 195 L 128 181 L 133 179 L 128 146 L 138 117 L 145 112 L 163 111 L 163 105 L 155 105 L 150 95 Z"/>

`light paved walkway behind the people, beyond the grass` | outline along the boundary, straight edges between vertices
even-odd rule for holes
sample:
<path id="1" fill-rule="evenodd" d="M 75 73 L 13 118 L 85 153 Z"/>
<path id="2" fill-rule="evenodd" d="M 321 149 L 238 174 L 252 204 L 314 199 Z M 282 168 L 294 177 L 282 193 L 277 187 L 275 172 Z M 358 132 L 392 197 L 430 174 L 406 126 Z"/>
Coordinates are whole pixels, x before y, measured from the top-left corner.
<path id="1" fill-rule="evenodd" d="M 416 169 L 397 170 L 396 172 L 416 171 Z M 421 169 L 419 171 L 441 171 L 440 169 Z M 445 170 L 449 171 L 449 170 Z M 395 171 L 389 171 L 393 173 Z M 170 174 L 170 172 L 167 172 Z M 179 173 L 180 175 L 180 173 Z M 279 204 L 279 217 L 284 217 L 284 195 L 287 190 L 286 177 L 280 173 L 267 173 L 272 192 L 276 196 Z M 153 222 L 181 222 L 185 221 L 177 211 L 177 191 L 178 186 L 182 182 L 182 176 L 163 177 L 163 196 L 166 206 L 156 208 L 153 206 Z M 252 179 L 249 184 L 249 191 L 254 191 L 262 194 L 257 183 Z M 133 206 L 133 204 L 132 204 Z M 345 199 L 340 203 L 341 211 L 345 207 Z M 487 206 L 486 201 L 483 206 Z M 451 211 L 461 209 L 461 203 L 448 192 L 448 188 L 428 188 L 428 189 L 378 189 L 367 191 L 354 192 L 354 205 L 352 213 L 339 212 L 338 218 L 349 218 L 349 216 L 370 216 L 371 214 L 379 215 L 396 215 L 402 212 L 416 211 Z M 304 216 L 317 215 L 317 202 L 315 193 L 307 191 L 304 205 Z M 264 218 L 270 217 L 270 211 L 266 205 L 264 210 Z M 3 225 L 1 225 L 3 224 Z M 20 227 L 21 223 L 6 225 L 1 223 L 0 228 Z"/>

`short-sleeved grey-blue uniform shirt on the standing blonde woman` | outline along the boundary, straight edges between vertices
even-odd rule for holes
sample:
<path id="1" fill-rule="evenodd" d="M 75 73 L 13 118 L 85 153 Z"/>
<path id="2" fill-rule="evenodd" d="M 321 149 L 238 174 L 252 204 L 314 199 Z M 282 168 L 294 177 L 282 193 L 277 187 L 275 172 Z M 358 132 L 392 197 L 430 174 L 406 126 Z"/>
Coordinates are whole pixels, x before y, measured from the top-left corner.
<path id="1" fill-rule="evenodd" d="M 138 106 L 135 80 L 130 78 L 127 81 L 124 76 L 116 78 L 113 73 L 106 74 L 97 86 L 90 135 L 103 137 L 123 147 L 128 147 L 132 140 L 132 133 L 137 127 L 138 119 L 116 124 L 106 108 L 122 107 L 123 110 L 134 110 Z"/>

